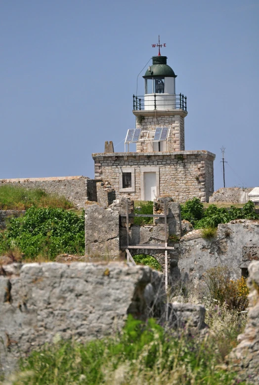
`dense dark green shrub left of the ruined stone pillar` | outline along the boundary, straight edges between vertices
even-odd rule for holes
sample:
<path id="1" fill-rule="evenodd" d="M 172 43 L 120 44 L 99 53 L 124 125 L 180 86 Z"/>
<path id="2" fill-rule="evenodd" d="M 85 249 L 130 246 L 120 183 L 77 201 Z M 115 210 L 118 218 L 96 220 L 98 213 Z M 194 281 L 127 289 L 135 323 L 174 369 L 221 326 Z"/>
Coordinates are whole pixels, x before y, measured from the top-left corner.
<path id="1" fill-rule="evenodd" d="M 57 254 L 85 253 L 85 215 L 64 209 L 31 207 L 12 218 L 0 236 L 0 252 L 16 248 L 25 258 L 39 255 L 53 259 Z"/>

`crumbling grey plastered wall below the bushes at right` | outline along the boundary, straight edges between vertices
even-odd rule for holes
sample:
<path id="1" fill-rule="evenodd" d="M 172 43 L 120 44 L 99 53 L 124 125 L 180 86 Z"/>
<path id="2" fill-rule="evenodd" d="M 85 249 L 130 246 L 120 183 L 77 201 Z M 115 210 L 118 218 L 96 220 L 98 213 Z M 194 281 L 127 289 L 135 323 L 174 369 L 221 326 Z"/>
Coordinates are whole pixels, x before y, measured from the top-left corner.
<path id="1" fill-rule="evenodd" d="M 182 280 L 196 285 L 211 267 L 226 265 L 239 279 L 253 259 L 259 259 L 259 222 L 239 219 L 219 224 L 215 238 L 193 230 L 180 239 L 178 269 Z M 244 270 L 243 270 L 244 271 Z"/>

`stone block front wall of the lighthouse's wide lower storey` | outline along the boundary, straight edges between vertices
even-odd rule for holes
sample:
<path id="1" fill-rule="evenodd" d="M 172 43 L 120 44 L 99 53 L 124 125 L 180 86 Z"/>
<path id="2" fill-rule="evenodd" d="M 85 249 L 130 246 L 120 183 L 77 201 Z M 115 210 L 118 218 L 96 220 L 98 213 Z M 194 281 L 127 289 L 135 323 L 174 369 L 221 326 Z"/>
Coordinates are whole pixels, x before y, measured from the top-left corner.
<path id="1" fill-rule="evenodd" d="M 208 151 L 179 151 L 177 153 L 114 153 L 92 154 L 95 178 L 111 185 L 116 198 L 130 197 L 143 200 L 143 172 L 152 167 L 159 173 L 157 195 L 170 196 L 185 202 L 194 196 L 208 202 L 213 193 L 213 162 L 215 155 Z M 143 167 L 145 167 L 143 171 Z M 129 192 L 120 188 L 123 168 L 131 169 L 134 186 Z M 134 183 L 133 183 L 134 182 Z M 141 192 L 142 191 L 142 192 Z"/>

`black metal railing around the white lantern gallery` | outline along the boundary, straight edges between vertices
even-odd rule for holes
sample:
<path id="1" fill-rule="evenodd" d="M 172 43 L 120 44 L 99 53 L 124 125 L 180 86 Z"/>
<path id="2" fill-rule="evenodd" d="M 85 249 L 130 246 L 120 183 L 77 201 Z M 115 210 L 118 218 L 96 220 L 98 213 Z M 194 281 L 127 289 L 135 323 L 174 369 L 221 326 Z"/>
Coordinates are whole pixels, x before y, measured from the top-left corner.
<path id="1" fill-rule="evenodd" d="M 158 97 L 162 95 L 164 95 L 163 99 L 159 99 Z M 164 110 L 167 107 L 169 110 L 187 111 L 187 97 L 181 93 L 179 95 L 165 95 L 163 93 L 145 96 L 133 95 L 133 110 Z"/>

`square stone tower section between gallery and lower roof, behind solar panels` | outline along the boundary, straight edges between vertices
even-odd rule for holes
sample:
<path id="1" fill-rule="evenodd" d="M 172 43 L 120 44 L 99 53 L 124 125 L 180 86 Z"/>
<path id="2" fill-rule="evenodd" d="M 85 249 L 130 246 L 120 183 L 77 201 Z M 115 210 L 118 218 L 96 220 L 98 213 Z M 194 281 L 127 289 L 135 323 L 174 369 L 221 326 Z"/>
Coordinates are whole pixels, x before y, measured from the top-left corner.
<path id="1" fill-rule="evenodd" d="M 136 128 L 141 128 L 144 130 L 155 130 L 156 127 L 169 127 L 170 136 L 168 140 L 168 151 L 184 151 L 184 118 L 179 115 L 171 116 L 156 116 L 156 117 L 142 117 L 142 122 L 140 119 L 136 118 Z M 142 139 L 146 134 L 141 132 Z M 146 142 L 138 142 L 136 146 L 137 152 L 148 152 L 148 144 Z"/>

